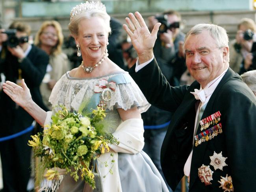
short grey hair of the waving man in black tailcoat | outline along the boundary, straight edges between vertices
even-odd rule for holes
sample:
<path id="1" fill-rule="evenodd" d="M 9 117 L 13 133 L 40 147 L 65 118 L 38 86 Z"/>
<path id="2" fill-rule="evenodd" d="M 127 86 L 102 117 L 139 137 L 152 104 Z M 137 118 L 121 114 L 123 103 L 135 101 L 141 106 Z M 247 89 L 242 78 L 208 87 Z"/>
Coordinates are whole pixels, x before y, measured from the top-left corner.
<path id="1" fill-rule="evenodd" d="M 187 32 L 184 42 L 186 42 L 189 35 L 198 35 L 202 31 L 209 31 L 211 37 L 216 40 L 218 48 L 228 47 L 228 34 L 226 30 L 215 24 L 197 24 L 190 31 Z"/>

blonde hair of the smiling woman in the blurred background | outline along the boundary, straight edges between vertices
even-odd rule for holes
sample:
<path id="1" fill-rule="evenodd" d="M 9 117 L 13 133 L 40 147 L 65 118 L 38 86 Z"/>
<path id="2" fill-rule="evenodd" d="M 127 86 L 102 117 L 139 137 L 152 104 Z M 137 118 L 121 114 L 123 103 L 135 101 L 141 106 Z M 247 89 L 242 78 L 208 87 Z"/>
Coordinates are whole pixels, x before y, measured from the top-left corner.
<path id="1" fill-rule="evenodd" d="M 51 20 L 51 21 L 43 22 L 43 24 L 41 25 L 41 27 L 37 31 L 37 34 L 35 35 L 35 42 L 34 43 L 35 43 L 36 46 L 39 46 L 39 47 L 41 46 L 40 36 L 42 35 L 45 28 L 48 27 L 48 26 L 54 27 L 57 31 L 58 41 L 57 41 L 57 44 L 52 48 L 52 51 L 51 51 L 51 54 L 57 55 L 57 54 L 62 52 L 61 47 L 62 47 L 62 44 L 63 44 L 63 41 L 64 41 L 62 28 L 61 28 L 61 25 L 59 24 L 58 21 Z"/>

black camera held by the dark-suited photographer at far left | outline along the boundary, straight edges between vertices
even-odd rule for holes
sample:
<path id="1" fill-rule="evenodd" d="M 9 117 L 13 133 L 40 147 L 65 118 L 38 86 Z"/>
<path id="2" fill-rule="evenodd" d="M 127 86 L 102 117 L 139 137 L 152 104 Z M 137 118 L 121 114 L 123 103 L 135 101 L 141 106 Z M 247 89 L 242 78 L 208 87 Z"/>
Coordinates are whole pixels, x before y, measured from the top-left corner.
<path id="1" fill-rule="evenodd" d="M 19 43 L 28 42 L 28 36 L 18 38 L 16 37 L 16 32 L 17 30 L 15 29 L 9 29 L 2 32 L 2 33 L 6 33 L 8 36 L 6 41 L 7 46 L 16 47 L 17 45 L 19 45 Z"/>

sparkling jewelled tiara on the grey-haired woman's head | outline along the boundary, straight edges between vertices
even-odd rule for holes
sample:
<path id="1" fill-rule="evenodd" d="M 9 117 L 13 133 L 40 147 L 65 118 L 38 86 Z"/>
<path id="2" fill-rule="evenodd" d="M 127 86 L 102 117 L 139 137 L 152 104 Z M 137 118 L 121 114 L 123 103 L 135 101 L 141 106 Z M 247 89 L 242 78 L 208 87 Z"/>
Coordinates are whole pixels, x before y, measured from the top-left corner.
<path id="1" fill-rule="evenodd" d="M 106 12 L 106 7 L 100 3 L 100 2 L 85 2 L 81 3 L 80 5 L 77 5 L 76 7 L 73 7 L 73 9 L 70 12 L 70 20 L 75 17 L 76 15 L 79 15 L 81 13 L 85 13 L 91 10 L 99 10 Z"/>

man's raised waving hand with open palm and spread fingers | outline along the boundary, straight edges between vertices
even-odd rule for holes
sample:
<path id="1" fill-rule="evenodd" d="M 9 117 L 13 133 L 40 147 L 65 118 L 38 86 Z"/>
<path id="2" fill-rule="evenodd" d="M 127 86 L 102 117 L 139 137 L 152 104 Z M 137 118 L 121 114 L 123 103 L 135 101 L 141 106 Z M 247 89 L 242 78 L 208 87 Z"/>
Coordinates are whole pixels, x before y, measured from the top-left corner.
<path id="1" fill-rule="evenodd" d="M 150 33 L 139 12 L 135 12 L 136 18 L 132 13 L 129 13 L 128 16 L 129 18 L 125 18 L 128 26 L 124 24 L 124 30 L 132 40 L 132 44 L 139 57 L 139 63 L 145 63 L 154 56 L 153 47 L 156 42 L 157 32 L 161 23 L 155 24 L 152 32 Z"/>

